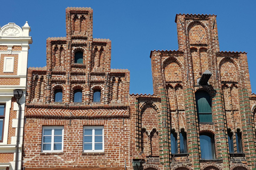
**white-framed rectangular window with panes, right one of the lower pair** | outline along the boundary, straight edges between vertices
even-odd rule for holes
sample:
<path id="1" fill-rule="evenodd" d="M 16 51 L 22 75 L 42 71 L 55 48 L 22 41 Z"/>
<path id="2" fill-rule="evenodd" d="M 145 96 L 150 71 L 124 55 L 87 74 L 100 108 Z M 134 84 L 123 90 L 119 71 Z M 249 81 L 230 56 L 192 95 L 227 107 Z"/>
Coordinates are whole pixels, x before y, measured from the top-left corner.
<path id="1" fill-rule="evenodd" d="M 103 126 L 84 126 L 83 134 L 84 152 L 103 152 L 104 151 L 104 127 Z"/>

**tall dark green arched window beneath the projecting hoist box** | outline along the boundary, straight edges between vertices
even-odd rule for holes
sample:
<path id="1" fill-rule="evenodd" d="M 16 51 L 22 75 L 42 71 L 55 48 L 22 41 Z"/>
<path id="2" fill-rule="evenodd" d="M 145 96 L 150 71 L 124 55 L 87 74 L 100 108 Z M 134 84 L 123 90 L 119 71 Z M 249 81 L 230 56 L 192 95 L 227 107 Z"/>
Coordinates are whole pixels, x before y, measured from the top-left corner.
<path id="1" fill-rule="evenodd" d="M 210 95 L 203 90 L 196 92 L 198 122 L 212 122 L 212 104 Z"/>

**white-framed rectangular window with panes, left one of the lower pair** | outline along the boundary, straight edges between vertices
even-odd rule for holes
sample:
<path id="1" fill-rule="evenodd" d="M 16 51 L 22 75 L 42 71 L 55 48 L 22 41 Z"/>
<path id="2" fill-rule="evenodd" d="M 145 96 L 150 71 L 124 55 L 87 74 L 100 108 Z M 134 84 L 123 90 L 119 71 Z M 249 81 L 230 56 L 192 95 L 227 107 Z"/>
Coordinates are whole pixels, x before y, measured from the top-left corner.
<path id="1" fill-rule="evenodd" d="M 62 152 L 63 132 L 63 126 L 43 126 L 42 152 Z"/>

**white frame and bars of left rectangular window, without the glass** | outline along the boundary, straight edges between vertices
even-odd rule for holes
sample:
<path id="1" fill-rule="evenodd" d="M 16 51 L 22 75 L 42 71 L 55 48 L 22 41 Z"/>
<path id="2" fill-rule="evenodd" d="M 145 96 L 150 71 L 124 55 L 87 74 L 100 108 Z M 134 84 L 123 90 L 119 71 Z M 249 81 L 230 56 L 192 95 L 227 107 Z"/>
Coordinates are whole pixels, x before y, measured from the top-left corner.
<path id="1" fill-rule="evenodd" d="M 44 130 L 52 130 L 51 134 L 51 150 L 43 150 L 44 149 Z M 62 130 L 62 142 L 61 142 L 61 150 L 54 150 L 54 131 L 55 129 L 61 129 Z M 63 126 L 43 126 L 42 130 L 42 152 L 63 152 L 63 138 L 64 138 L 64 127 Z"/>

